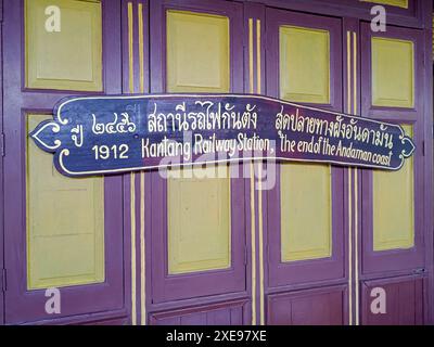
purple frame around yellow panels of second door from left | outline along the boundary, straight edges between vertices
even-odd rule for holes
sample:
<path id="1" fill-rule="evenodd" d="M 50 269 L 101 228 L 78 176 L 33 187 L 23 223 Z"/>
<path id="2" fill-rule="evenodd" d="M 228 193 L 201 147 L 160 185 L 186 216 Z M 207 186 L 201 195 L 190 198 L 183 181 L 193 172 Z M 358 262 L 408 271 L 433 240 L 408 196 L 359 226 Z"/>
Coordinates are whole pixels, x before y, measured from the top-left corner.
<path id="1" fill-rule="evenodd" d="M 242 4 L 232 1 L 202 1 L 202 0 L 187 0 L 187 1 L 175 1 L 175 0 L 155 0 L 150 3 L 150 47 L 152 48 L 150 52 L 150 88 L 151 92 L 166 92 L 166 10 L 179 10 L 179 11 L 191 11 L 191 12 L 203 12 L 215 15 L 228 16 L 230 21 L 230 89 L 232 92 L 243 92 L 244 86 L 244 72 L 243 72 L 243 38 L 233 34 L 233 29 L 243 30 L 243 13 Z M 232 39 L 233 38 L 233 39 Z M 237 51 L 238 50 L 238 51 Z M 240 172 L 243 170 L 242 165 L 240 165 Z M 235 181 L 234 181 L 235 180 Z M 235 187 L 237 185 L 237 187 Z M 149 194 L 146 194 L 145 204 L 150 204 L 149 218 L 146 217 L 146 239 L 151 240 L 148 242 L 149 247 L 146 247 L 148 261 L 150 268 L 148 268 L 148 278 L 151 279 L 151 285 L 146 287 L 150 294 L 146 295 L 146 305 L 150 314 L 156 310 L 163 308 L 169 310 L 170 308 L 179 307 L 179 303 L 191 303 L 194 300 L 195 305 L 201 305 L 205 303 L 217 303 L 230 300 L 232 298 L 244 298 L 250 296 L 250 279 L 247 265 L 244 262 L 245 257 L 245 246 L 242 249 L 234 249 L 231 247 L 231 261 L 232 267 L 228 270 L 212 270 L 205 272 L 197 272 L 194 274 L 180 274 L 177 277 L 167 275 L 167 265 L 165 258 L 166 252 L 161 254 L 155 254 L 155 249 L 159 252 L 165 249 L 164 244 L 166 243 L 167 235 L 167 218 L 165 213 L 167 211 L 167 184 L 166 180 L 159 177 L 158 171 L 152 171 L 146 174 L 145 189 Z M 234 235 L 232 233 L 232 246 L 242 246 L 248 243 L 248 237 L 246 231 L 248 226 L 248 201 L 246 197 L 246 182 L 243 178 L 231 179 L 231 203 L 232 206 L 238 206 L 240 210 L 243 210 L 243 227 L 240 230 L 232 231 L 242 232 L 240 235 Z M 242 196 L 235 196 L 233 192 L 240 192 Z M 244 198 L 245 197 L 245 198 Z M 244 202 L 242 201 L 244 200 Z M 231 219 L 231 226 L 234 227 L 237 223 Z M 149 226 L 149 227 L 148 227 Z M 152 227 L 151 227 L 152 226 Z M 235 237 L 234 237 L 235 236 Z M 152 245 L 155 245 L 152 246 Z M 235 261 L 235 262 L 233 262 Z M 166 269 L 155 269 L 156 266 L 161 267 L 164 265 Z M 235 267 L 233 265 L 235 264 Z M 201 278 L 202 280 L 210 278 L 212 275 L 222 277 L 225 272 L 232 271 L 237 278 L 237 288 L 229 292 L 221 293 L 210 293 L 204 294 L 197 293 L 193 298 L 180 298 L 169 296 L 165 297 L 163 294 L 164 286 L 173 286 L 182 277 L 187 278 Z M 243 285 L 240 285 L 240 274 L 243 273 Z M 171 278 L 171 279 L 170 279 Z M 177 279 L 178 278 L 178 279 Z M 182 279 L 182 281 L 184 281 Z M 202 283 L 200 280 L 197 283 Z M 148 281 L 150 282 L 150 281 Z M 239 283 L 240 282 L 240 283 Z M 207 285 L 209 286 L 209 285 Z M 183 287 L 183 286 L 182 286 Z M 157 293 L 157 294 L 155 294 Z M 217 297 L 218 296 L 218 297 Z M 148 299 L 149 298 L 149 299 Z M 187 305 L 187 304 L 186 304 Z"/>

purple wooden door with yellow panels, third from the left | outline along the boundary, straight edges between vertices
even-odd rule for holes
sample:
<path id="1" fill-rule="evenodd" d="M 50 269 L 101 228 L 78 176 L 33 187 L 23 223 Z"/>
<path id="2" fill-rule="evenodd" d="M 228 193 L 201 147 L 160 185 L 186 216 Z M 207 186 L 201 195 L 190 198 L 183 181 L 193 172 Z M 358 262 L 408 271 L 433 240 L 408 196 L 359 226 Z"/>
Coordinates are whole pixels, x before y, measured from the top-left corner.
<path id="1" fill-rule="evenodd" d="M 341 20 L 267 9 L 266 21 L 267 95 L 342 112 Z M 345 322 L 345 287 L 328 287 L 345 283 L 343 178 L 339 167 L 280 164 L 264 192 L 268 323 Z M 291 292 L 312 283 L 322 294 Z"/>

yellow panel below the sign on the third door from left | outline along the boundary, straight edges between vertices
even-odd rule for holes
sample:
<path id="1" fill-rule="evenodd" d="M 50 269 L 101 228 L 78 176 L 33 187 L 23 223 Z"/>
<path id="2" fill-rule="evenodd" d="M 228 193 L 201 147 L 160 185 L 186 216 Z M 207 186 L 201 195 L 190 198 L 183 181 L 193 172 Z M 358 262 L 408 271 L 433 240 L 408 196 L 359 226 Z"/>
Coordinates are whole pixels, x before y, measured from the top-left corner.
<path id="1" fill-rule="evenodd" d="M 280 167 L 281 261 L 330 257 L 330 166 L 282 164 Z"/>

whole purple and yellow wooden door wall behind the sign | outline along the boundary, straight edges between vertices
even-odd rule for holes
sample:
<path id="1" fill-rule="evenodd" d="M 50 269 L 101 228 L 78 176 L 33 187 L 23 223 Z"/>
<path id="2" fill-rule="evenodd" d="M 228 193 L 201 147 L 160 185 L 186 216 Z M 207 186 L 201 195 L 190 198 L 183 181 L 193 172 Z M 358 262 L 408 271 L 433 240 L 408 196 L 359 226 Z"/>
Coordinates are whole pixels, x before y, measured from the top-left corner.
<path id="1" fill-rule="evenodd" d="M 55 35 L 41 25 L 53 2 Z M 432 322 L 430 2 L 0 3 L 4 323 Z M 379 3 L 386 33 L 369 26 Z M 418 150 L 394 174 L 278 165 L 260 191 L 265 180 L 233 174 L 265 163 L 221 166 L 226 178 L 66 179 L 26 138 L 71 94 L 229 91 L 395 121 Z M 384 316 L 369 310 L 376 286 Z"/>

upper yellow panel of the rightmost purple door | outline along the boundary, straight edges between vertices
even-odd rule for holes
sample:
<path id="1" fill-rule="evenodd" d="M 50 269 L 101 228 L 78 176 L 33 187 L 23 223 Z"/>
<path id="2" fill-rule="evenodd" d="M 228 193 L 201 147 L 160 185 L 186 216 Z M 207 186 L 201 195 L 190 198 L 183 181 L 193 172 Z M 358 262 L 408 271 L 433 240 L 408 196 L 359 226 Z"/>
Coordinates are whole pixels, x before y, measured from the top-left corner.
<path id="1" fill-rule="evenodd" d="M 372 38 L 372 105 L 414 106 L 413 54 L 412 41 Z"/>

